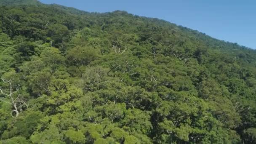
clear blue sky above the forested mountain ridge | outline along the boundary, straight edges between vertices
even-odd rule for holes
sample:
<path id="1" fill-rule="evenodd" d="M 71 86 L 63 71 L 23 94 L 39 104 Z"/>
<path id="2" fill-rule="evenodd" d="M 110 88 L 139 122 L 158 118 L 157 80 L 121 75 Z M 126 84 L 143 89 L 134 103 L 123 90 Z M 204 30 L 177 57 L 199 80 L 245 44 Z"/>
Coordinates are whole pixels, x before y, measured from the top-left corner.
<path id="1" fill-rule="evenodd" d="M 40 0 L 89 12 L 123 10 L 256 49 L 256 0 Z"/>

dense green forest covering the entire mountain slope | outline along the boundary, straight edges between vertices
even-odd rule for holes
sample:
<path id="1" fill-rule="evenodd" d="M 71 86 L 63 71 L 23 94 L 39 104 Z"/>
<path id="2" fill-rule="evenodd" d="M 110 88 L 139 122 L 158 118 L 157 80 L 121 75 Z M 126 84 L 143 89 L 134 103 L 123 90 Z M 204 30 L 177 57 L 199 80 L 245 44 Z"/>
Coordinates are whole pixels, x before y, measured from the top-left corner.
<path id="1" fill-rule="evenodd" d="M 0 144 L 256 144 L 256 51 L 125 11 L 0 0 Z"/>

